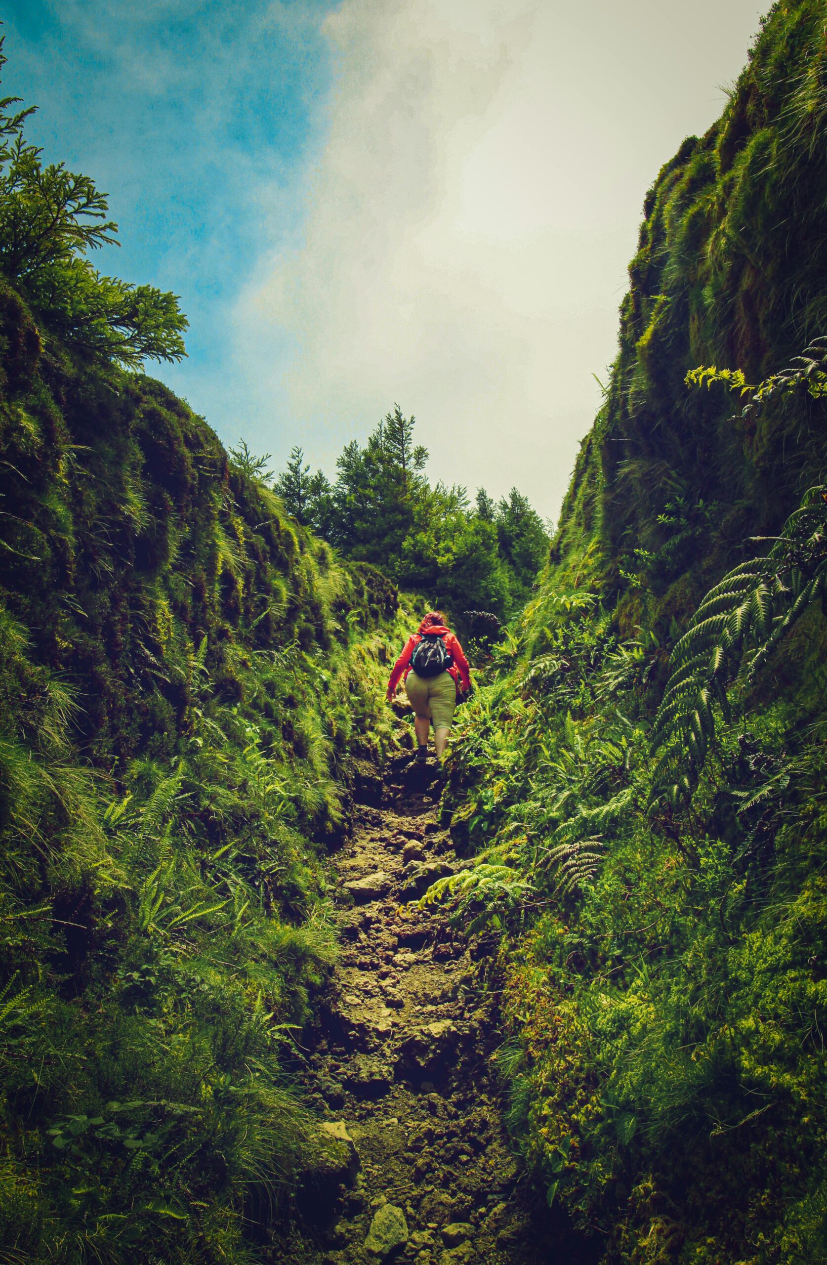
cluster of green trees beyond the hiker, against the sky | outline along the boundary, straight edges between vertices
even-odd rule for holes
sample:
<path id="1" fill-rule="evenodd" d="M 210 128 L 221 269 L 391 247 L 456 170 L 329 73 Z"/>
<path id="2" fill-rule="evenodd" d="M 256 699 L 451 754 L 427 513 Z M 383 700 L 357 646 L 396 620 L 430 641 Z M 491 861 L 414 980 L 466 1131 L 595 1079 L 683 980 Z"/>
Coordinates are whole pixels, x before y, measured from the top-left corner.
<path id="1" fill-rule="evenodd" d="M 484 488 L 472 507 L 465 488 L 431 487 L 427 450 L 414 443 L 415 419 L 395 411 L 362 448 L 338 460 L 335 483 L 311 474 L 300 448 L 276 491 L 293 517 L 348 558 L 379 567 L 405 589 L 445 606 L 463 630 L 484 638 L 486 621 L 505 619 L 531 593 L 549 552 L 542 520 L 516 488 L 494 502 Z"/>

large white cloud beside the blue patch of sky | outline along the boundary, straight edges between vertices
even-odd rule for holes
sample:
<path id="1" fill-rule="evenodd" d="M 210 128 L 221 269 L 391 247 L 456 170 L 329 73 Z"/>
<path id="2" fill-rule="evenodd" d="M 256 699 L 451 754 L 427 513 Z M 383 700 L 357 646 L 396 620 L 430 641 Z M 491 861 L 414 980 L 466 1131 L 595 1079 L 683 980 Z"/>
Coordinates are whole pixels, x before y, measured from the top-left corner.
<path id="1" fill-rule="evenodd" d="M 303 240 L 238 311 L 257 438 L 330 467 L 398 400 L 434 474 L 556 512 L 644 192 L 756 25 L 746 0 L 344 0 Z"/>

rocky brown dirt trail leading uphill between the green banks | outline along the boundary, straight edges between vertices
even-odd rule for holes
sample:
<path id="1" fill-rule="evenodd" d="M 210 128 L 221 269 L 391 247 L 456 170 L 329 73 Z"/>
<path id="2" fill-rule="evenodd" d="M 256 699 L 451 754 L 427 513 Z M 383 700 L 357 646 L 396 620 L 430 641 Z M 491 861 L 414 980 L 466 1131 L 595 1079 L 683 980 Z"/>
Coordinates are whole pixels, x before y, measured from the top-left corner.
<path id="1" fill-rule="evenodd" d="M 570 1259 L 502 1127 L 479 966 L 444 912 L 408 903 L 462 865 L 432 779 L 410 753 L 364 778 L 373 806 L 335 860 L 343 953 L 307 1064 L 322 1155 L 278 1262 Z"/>

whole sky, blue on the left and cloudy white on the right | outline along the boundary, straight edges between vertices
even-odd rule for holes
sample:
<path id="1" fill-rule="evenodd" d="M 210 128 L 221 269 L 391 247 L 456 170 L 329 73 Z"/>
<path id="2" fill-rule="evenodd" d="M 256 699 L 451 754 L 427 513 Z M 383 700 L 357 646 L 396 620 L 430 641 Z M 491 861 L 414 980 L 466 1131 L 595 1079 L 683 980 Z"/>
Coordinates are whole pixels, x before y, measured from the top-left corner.
<path id="1" fill-rule="evenodd" d="M 646 188 L 721 114 L 751 0 L 8 0 L 4 94 L 181 296 L 149 364 L 329 474 L 395 402 L 429 473 L 556 517 Z"/>

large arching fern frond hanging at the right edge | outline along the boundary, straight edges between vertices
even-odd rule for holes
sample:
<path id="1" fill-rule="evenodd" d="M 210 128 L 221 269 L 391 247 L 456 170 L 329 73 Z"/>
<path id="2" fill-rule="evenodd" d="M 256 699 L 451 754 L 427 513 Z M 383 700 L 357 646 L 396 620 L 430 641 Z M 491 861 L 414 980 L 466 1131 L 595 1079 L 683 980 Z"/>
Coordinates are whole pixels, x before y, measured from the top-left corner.
<path id="1" fill-rule="evenodd" d="M 764 538 L 754 538 L 761 540 Z M 702 600 L 670 658 L 652 748 L 663 748 L 654 798 L 690 798 L 728 689 L 750 684 L 827 584 L 827 484 L 812 487 L 769 553 L 741 563 Z"/>

